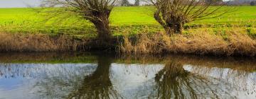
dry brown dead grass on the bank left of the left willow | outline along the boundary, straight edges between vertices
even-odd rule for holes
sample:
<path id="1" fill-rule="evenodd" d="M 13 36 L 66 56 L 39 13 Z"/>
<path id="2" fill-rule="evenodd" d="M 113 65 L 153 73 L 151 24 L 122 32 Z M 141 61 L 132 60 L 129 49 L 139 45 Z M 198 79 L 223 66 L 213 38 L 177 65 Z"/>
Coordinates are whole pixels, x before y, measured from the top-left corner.
<path id="1" fill-rule="evenodd" d="M 69 36 L 18 35 L 0 33 L 1 52 L 55 52 L 78 51 L 85 41 Z"/>

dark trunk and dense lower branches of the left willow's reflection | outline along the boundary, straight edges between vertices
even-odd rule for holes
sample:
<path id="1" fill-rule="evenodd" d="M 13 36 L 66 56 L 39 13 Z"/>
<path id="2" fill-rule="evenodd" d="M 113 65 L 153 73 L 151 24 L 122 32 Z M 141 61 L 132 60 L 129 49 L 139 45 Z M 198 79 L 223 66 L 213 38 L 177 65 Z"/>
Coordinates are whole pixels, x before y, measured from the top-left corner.
<path id="1" fill-rule="evenodd" d="M 110 81 L 111 63 L 110 57 L 98 57 L 96 71 L 92 75 L 85 76 L 82 86 L 75 89 L 75 93 L 70 93 L 68 98 L 119 98 Z"/>

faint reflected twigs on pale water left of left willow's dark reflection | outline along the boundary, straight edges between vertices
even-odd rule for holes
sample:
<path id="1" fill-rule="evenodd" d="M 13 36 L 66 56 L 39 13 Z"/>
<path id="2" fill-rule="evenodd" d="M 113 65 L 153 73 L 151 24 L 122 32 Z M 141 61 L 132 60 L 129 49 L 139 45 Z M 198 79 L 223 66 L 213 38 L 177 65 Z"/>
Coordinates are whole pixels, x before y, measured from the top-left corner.
<path id="1" fill-rule="evenodd" d="M 40 90 L 36 93 L 42 98 L 66 98 L 66 95 L 74 89 L 80 88 L 83 75 L 91 74 L 95 70 L 95 64 L 83 64 L 82 66 L 52 66 L 51 71 L 42 71 L 38 74 L 38 82 L 34 88 Z"/>

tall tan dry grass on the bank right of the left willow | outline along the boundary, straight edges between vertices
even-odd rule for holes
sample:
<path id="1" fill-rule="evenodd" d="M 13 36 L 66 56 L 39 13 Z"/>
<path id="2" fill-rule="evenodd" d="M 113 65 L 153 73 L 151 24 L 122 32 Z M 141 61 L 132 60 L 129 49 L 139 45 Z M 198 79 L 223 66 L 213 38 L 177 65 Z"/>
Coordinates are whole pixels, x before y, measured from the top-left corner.
<path id="1" fill-rule="evenodd" d="M 246 34 L 242 28 L 225 31 L 225 39 L 219 33 L 208 30 L 188 30 L 187 35 L 172 35 L 165 33 L 140 33 L 136 40 L 124 35 L 117 50 L 120 53 L 186 53 L 213 55 L 256 55 L 256 41 Z"/>

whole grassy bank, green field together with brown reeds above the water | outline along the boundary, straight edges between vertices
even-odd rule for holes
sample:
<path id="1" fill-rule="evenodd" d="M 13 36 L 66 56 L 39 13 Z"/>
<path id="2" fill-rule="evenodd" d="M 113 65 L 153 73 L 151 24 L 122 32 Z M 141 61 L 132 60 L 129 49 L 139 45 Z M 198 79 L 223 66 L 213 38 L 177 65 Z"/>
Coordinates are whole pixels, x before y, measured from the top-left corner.
<path id="1" fill-rule="evenodd" d="M 116 7 L 110 16 L 114 39 L 107 47 L 95 39 L 92 24 L 79 18 L 44 21 L 31 8 L 0 8 L 1 52 L 108 50 L 120 53 L 256 55 L 255 6 L 238 6 L 219 18 L 186 24 L 182 35 L 167 37 L 154 8 Z"/>

